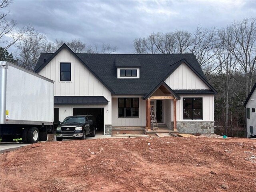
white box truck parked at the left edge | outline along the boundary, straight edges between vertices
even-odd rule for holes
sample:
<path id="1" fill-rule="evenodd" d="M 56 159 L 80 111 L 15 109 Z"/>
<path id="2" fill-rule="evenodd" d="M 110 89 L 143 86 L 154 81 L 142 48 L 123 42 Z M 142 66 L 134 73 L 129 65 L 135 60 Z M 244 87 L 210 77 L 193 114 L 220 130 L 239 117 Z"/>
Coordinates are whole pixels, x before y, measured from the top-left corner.
<path id="1" fill-rule="evenodd" d="M 0 137 L 24 143 L 47 139 L 53 124 L 54 81 L 8 61 L 0 61 Z"/>

